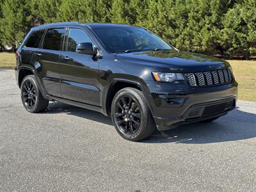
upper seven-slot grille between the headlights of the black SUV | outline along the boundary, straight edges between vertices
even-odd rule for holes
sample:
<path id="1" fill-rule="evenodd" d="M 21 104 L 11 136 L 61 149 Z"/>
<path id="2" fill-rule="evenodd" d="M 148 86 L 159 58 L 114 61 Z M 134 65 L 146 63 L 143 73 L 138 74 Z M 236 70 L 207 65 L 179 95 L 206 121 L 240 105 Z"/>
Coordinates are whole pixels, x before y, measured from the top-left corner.
<path id="1" fill-rule="evenodd" d="M 189 86 L 214 86 L 231 83 L 232 74 L 228 68 L 212 70 L 207 72 L 186 73 L 186 80 Z"/>

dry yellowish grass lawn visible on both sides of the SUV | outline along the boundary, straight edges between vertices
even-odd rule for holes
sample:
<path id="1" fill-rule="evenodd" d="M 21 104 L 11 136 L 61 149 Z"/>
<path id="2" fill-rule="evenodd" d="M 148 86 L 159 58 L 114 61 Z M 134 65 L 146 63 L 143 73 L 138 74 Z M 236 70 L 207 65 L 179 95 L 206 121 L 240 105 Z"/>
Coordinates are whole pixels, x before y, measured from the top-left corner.
<path id="1" fill-rule="evenodd" d="M 228 60 L 239 83 L 238 99 L 256 102 L 256 61 Z M 15 55 L 0 52 L 0 68 L 13 69 Z"/>

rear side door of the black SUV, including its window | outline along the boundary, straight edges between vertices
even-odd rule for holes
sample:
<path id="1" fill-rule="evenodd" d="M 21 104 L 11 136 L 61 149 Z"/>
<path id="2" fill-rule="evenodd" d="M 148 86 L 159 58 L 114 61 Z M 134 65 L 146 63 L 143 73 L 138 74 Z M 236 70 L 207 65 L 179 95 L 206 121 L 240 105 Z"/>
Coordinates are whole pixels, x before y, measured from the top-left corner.
<path id="1" fill-rule="evenodd" d="M 40 49 L 33 56 L 45 92 L 56 97 L 61 97 L 59 61 L 64 36 L 65 28 L 47 29 Z"/>

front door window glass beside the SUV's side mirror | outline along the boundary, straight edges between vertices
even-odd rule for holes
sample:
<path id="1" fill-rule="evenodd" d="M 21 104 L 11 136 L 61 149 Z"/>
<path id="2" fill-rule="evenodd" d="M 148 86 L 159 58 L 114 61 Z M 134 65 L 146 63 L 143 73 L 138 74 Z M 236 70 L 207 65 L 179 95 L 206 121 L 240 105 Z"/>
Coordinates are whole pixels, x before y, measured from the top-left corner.
<path id="1" fill-rule="evenodd" d="M 92 43 L 90 37 L 82 29 L 70 29 L 68 33 L 67 51 L 76 52 L 76 45 L 80 43 Z"/>

